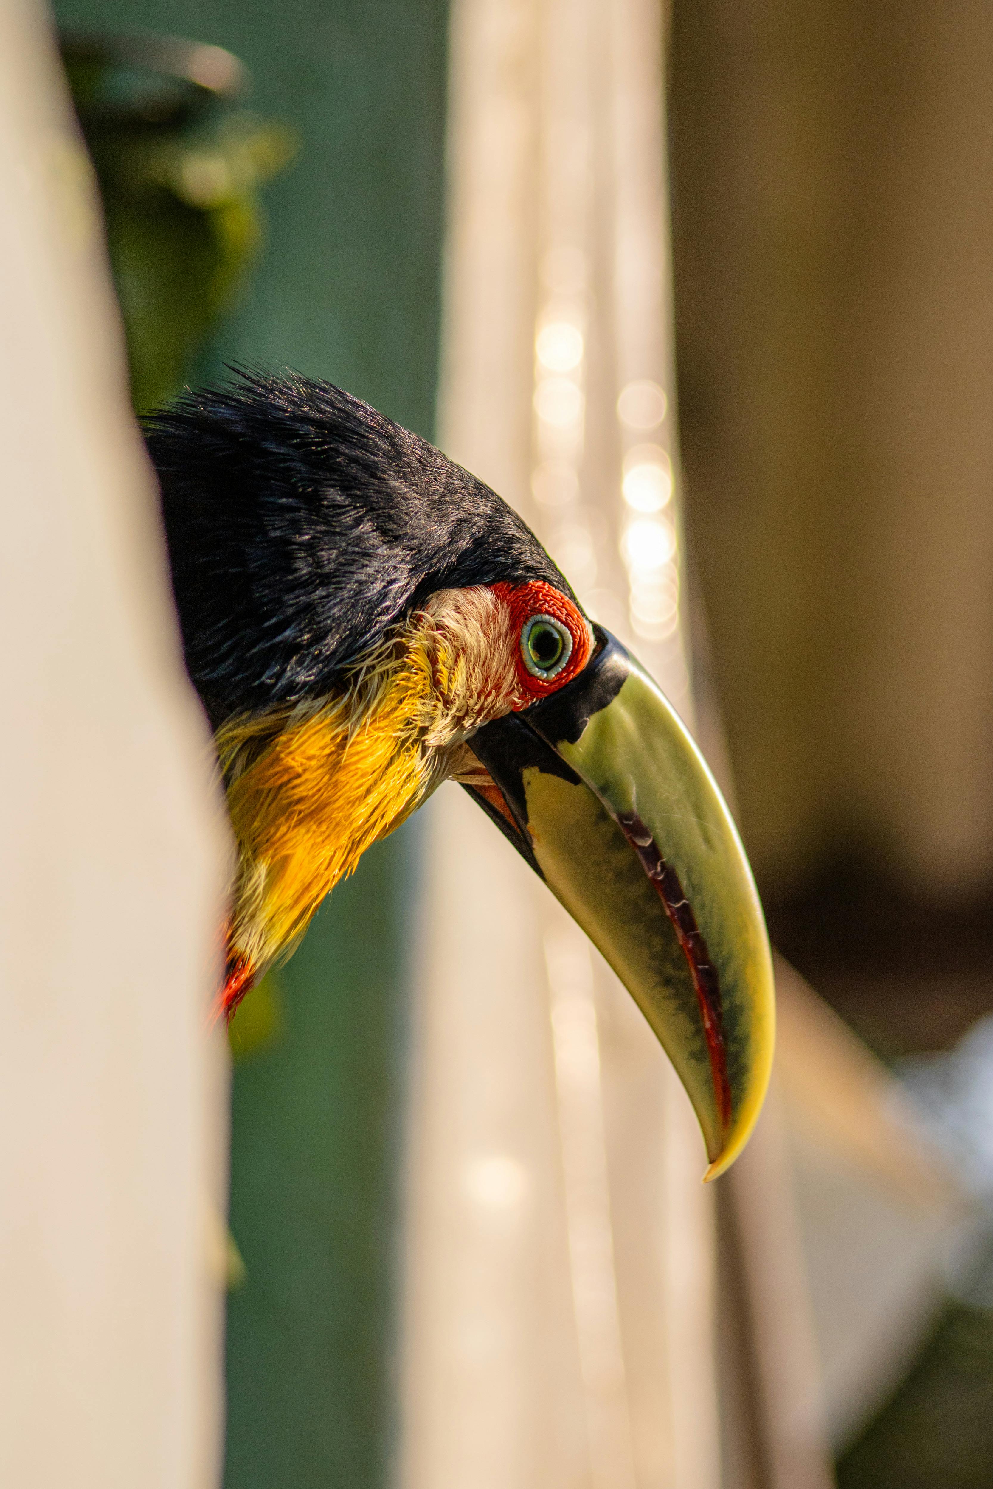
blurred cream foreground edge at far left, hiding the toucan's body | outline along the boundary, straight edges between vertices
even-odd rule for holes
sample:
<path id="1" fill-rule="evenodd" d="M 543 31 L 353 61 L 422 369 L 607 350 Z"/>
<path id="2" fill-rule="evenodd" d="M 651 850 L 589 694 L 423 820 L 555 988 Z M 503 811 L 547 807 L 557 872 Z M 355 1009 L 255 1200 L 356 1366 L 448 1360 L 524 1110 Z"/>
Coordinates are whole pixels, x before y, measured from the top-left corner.
<path id="1" fill-rule="evenodd" d="M 226 840 L 89 167 L 0 6 L 0 1483 L 219 1479 Z"/>

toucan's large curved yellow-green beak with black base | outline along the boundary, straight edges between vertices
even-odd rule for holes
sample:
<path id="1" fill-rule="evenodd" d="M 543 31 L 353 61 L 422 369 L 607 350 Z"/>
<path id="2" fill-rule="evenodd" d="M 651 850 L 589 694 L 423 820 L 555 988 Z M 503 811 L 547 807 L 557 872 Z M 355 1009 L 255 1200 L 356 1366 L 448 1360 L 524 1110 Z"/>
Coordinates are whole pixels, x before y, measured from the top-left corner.
<path id="1" fill-rule="evenodd" d="M 773 965 L 731 813 L 676 710 L 597 628 L 560 692 L 481 728 L 476 797 L 625 984 L 722 1173 L 773 1063 Z"/>

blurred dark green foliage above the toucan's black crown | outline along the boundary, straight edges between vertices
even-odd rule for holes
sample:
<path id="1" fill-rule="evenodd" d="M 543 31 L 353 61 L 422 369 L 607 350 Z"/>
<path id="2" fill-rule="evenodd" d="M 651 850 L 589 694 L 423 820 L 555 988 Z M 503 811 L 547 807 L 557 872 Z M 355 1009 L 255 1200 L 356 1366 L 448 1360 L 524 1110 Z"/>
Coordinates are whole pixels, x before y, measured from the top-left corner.
<path id="1" fill-rule="evenodd" d="M 237 302 L 265 237 L 259 189 L 299 144 L 290 125 L 231 107 L 246 73 L 228 54 L 228 95 L 198 85 L 202 51 L 155 36 L 63 43 L 100 182 L 138 412 L 182 387 Z"/>

